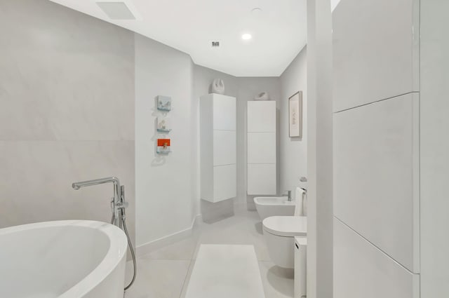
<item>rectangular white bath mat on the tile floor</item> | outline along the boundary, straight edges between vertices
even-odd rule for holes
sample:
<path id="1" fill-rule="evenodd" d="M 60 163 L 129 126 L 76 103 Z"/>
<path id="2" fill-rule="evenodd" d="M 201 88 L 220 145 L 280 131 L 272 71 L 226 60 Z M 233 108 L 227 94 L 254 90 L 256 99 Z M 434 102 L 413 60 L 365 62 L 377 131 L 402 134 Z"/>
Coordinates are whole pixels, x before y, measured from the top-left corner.
<path id="1" fill-rule="evenodd" d="M 202 244 L 185 298 L 264 298 L 253 245 Z"/>

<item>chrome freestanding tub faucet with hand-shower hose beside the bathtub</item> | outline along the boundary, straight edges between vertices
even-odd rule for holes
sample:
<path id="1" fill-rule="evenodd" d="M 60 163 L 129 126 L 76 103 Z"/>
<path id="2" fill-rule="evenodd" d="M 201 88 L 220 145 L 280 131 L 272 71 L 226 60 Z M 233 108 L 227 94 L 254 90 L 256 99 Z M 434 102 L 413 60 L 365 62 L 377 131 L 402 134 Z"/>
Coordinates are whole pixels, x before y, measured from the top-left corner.
<path id="1" fill-rule="evenodd" d="M 112 219 L 111 224 L 118 226 L 120 229 L 126 234 L 126 238 L 128 240 L 129 249 L 131 251 L 131 257 L 133 257 L 133 279 L 130 281 L 129 285 L 125 287 L 125 290 L 128 290 L 131 285 L 133 285 L 135 276 L 137 274 L 136 262 L 135 262 L 135 252 L 133 248 L 133 243 L 131 243 L 128 229 L 126 228 L 126 208 L 128 207 L 128 202 L 125 200 L 125 186 L 120 185 L 120 180 L 117 177 L 107 177 L 100 178 L 95 180 L 87 180 L 81 182 L 72 183 L 72 187 L 75 190 L 81 189 L 81 187 L 91 187 L 93 185 L 105 184 L 105 183 L 113 183 L 114 184 L 114 197 L 111 201 L 111 210 L 112 210 Z"/>

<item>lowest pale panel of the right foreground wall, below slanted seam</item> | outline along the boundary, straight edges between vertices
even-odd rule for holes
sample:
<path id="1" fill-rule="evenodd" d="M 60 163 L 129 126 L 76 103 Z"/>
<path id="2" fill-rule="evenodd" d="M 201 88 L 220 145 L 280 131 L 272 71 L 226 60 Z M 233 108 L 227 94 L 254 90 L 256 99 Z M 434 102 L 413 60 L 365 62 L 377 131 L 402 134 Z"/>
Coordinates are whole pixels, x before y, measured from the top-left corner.
<path id="1" fill-rule="evenodd" d="M 418 298 L 420 275 L 410 273 L 334 220 L 333 297 Z"/>

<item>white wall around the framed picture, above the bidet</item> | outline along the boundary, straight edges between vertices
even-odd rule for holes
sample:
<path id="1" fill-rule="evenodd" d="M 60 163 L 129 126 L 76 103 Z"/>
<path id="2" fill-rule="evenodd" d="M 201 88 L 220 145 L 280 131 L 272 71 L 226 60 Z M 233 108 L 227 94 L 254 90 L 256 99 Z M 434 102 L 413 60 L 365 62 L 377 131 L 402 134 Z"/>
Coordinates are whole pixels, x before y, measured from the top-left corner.
<path id="1" fill-rule="evenodd" d="M 288 136 L 288 97 L 302 91 L 302 137 Z M 294 190 L 300 177 L 307 177 L 307 47 L 281 75 L 281 115 L 279 129 L 279 189 Z M 294 191 L 293 191 L 294 193 Z"/>

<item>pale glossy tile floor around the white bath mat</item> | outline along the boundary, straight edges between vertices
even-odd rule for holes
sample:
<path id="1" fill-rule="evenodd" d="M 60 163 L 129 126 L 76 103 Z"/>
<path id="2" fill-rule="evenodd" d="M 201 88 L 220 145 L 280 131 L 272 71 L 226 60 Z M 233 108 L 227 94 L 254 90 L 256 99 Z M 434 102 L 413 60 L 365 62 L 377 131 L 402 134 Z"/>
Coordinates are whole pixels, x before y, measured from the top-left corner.
<path id="1" fill-rule="evenodd" d="M 293 297 L 293 270 L 270 261 L 255 211 L 236 205 L 235 215 L 213 224 L 200 224 L 192 236 L 138 258 L 138 277 L 126 298 L 184 298 L 201 244 L 254 245 L 266 298 Z M 126 264 L 127 279 L 132 263 Z"/>

